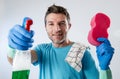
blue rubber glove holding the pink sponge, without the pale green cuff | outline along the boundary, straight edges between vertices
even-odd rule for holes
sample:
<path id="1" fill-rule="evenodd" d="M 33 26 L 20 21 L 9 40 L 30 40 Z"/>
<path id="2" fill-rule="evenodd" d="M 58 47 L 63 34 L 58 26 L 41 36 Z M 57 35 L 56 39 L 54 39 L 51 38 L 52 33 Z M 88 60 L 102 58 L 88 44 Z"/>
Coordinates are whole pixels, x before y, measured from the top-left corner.
<path id="1" fill-rule="evenodd" d="M 101 44 L 96 47 L 97 58 L 99 61 L 99 66 L 102 70 L 109 69 L 110 61 L 114 54 L 114 48 L 107 38 L 97 39 Z"/>

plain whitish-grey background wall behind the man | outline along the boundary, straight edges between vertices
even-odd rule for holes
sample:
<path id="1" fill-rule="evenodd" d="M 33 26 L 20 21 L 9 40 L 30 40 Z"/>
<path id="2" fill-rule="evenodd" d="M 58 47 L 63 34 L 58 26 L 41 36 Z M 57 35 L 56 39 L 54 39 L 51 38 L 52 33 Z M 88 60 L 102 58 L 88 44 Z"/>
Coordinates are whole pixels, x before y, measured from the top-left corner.
<path id="1" fill-rule="evenodd" d="M 38 43 L 50 42 L 44 28 L 44 14 L 48 6 L 62 5 L 71 15 L 72 27 L 68 37 L 73 41 L 85 43 L 91 47 L 91 54 L 96 64 L 95 47 L 87 41 L 90 20 L 98 12 L 107 14 L 111 19 L 108 29 L 109 40 L 115 48 L 110 64 L 113 79 L 120 78 L 120 1 L 119 0 L 0 0 L 0 79 L 11 79 L 12 66 L 7 61 L 7 35 L 15 24 L 22 24 L 24 17 L 34 21 L 34 46 Z M 98 64 L 97 64 L 98 65 Z M 38 66 L 31 65 L 30 79 L 38 79 Z"/>

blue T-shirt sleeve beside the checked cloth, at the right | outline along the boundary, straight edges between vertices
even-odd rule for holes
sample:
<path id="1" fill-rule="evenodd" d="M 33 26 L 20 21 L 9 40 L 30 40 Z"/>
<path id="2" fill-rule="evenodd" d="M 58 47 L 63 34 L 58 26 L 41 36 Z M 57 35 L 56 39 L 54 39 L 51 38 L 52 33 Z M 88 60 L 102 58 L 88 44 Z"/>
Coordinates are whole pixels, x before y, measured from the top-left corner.
<path id="1" fill-rule="evenodd" d="M 88 49 L 84 53 L 82 64 L 85 76 L 84 79 L 99 79 L 99 71 Z"/>

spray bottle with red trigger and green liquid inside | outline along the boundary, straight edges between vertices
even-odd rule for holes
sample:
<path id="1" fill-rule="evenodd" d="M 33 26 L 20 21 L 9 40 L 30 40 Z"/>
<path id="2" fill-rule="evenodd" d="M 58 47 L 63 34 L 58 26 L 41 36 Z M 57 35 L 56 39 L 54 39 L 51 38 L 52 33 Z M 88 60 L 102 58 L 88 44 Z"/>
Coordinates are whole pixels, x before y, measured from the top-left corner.
<path id="1" fill-rule="evenodd" d="M 25 17 L 22 27 L 30 31 L 32 19 Z M 29 79 L 31 65 L 31 54 L 29 50 L 17 50 L 13 59 L 12 79 Z"/>

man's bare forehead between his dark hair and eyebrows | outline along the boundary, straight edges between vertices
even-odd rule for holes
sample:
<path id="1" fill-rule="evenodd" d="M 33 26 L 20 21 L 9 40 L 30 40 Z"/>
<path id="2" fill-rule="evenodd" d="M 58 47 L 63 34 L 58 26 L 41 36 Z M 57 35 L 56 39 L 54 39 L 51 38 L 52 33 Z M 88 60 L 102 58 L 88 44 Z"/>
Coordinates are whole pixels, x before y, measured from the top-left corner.
<path id="1" fill-rule="evenodd" d="M 47 22 L 60 22 L 60 21 L 66 21 L 67 18 L 64 14 L 60 13 L 50 13 L 46 17 Z"/>

